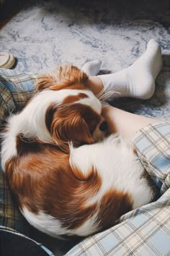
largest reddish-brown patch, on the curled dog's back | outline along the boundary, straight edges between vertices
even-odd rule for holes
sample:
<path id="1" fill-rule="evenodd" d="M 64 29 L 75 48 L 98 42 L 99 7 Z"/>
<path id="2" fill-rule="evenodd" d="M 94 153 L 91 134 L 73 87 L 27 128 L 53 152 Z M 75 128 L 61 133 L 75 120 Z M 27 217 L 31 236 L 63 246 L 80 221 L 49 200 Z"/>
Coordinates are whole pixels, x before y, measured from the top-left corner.
<path id="1" fill-rule="evenodd" d="M 101 178 L 95 168 L 88 176 L 71 168 L 69 155 L 55 146 L 37 144 L 17 138 L 19 155 L 6 162 L 9 187 L 21 209 L 35 214 L 41 210 L 76 229 L 97 210 L 97 204 L 86 203 L 99 191 Z"/>

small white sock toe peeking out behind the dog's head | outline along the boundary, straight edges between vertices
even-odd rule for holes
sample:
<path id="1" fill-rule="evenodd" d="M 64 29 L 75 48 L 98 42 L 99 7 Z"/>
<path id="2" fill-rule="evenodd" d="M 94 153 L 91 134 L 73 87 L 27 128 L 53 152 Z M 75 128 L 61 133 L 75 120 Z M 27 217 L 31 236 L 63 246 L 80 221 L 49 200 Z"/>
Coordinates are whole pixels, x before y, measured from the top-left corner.
<path id="1" fill-rule="evenodd" d="M 88 61 L 86 62 L 81 70 L 83 70 L 88 76 L 94 76 L 99 74 L 99 69 L 102 65 L 102 61 L 95 60 L 95 61 Z"/>

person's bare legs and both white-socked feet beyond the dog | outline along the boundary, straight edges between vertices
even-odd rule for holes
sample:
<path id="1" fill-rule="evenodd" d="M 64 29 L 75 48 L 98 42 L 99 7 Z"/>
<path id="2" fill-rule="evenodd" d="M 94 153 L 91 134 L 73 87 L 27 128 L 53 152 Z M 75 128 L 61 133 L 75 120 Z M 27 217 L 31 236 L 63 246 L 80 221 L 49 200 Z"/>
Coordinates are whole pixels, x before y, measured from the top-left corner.
<path id="1" fill-rule="evenodd" d="M 87 81 L 87 87 L 94 94 L 111 93 L 114 97 L 151 98 L 155 90 L 155 79 L 161 70 L 161 48 L 156 40 L 150 40 L 146 52 L 133 65 L 120 72 L 92 76 L 99 70 L 99 61 L 90 61 L 84 65 L 83 70 L 91 75 Z M 96 67 L 95 67 L 96 66 Z M 91 69 L 90 69 L 91 67 Z M 112 106 L 103 108 L 103 114 L 107 120 L 109 132 L 117 132 L 125 140 L 130 140 L 135 132 L 157 119 L 122 111 Z"/>

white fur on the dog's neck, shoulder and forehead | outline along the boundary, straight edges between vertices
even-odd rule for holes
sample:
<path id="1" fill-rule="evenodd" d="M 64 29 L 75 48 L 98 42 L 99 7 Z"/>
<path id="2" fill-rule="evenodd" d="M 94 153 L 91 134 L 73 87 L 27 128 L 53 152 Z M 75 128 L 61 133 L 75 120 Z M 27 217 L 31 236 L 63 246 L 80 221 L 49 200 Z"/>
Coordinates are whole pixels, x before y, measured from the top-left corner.
<path id="1" fill-rule="evenodd" d="M 10 132 L 3 134 L 2 148 L 1 148 L 1 165 L 4 165 L 7 160 L 17 155 L 16 150 L 16 136 L 22 133 L 26 137 L 38 138 L 42 142 L 51 143 L 53 138 L 50 135 L 45 125 L 45 114 L 50 103 L 55 103 L 58 106 L 64 98 L 70 95 L 79 95 L 82 90 L 43 90 L 35 95 L 31 102 L 23 109 L 23 111 L 14 116 L 10 116 L 8 120 L 8 129 Z M 102 112 L 102 104 L 91 93 L 90 90 L 84 90 L 84 94 L 88 98 L 83 98 L 74 103 L 81 103 L 82 105 L 90 106 L 97 114 Z M 95 131 L 95 133 L 99 131 Z"/>

